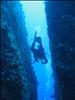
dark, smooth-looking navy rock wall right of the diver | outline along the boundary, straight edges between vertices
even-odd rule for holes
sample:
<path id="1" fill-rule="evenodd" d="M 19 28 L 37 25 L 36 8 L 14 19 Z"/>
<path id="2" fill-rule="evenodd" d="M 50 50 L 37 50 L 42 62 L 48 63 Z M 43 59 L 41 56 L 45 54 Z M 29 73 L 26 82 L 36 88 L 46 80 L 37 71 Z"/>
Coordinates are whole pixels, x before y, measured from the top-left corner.
<path id="1" fill-rule="evenodd" d="M 75 100 L 75 1 L 46 1 L 56 100 Z"/>

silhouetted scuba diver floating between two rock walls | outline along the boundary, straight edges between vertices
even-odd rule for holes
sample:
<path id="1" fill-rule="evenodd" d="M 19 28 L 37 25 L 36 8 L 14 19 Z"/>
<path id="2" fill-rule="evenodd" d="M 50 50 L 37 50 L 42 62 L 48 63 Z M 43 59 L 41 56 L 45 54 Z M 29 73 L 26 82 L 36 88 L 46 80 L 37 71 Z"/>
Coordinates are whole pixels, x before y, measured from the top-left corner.
<path id="1" fill-rule="evenodd" d="M 48 63 L 48 60 L 45 56 L 44 48 L 42 46 L 41 37 L 36 36 L 36 35 L 37 35 L 37 32 L 35 32 L 34 41 L 33 41 L 32 46 L 31 46 L 31 51 L 34 55 L 33 63 L 39 62 L 39 60 L 41 60 L 42 64 L 46 64 L 46 63 Z"/>

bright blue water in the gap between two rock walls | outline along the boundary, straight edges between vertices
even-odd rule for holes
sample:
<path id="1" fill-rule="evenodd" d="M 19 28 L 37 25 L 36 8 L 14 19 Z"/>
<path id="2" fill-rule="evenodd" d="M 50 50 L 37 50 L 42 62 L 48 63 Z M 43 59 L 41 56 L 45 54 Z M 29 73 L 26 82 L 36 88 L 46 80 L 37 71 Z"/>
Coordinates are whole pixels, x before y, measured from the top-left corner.
<path id="1" fill-rule="evenodd" d="M 49 48 L 49 39 L 47 35 L 47 22 L 45 15 L 45 5 L 43 1 L 21 1 L 25 13 L 25 23 L 28 32 L 28 42 L 31 46 L 34 39 L 34 32 L 42 38 L 48 63 L 43 65 L 41 62 L 34 63 L 33 68 L 38 80 L 38 100 L 55 100 L 54 99 L 54 77 L 51 67 L 51 54 Z M 33 60 L 33 55 L 32 55 Z M 53 97 L 51 97 L 53 96 Z"/>

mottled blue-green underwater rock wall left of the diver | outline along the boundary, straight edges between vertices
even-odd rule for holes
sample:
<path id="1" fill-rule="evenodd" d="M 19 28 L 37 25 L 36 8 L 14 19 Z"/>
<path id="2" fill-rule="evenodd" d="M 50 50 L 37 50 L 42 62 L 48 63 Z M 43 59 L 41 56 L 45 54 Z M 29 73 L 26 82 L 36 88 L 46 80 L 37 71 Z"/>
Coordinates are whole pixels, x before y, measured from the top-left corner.
<path id="1" fill-rule="evenodd" d="M 1 100 L 37 100 L 21 4 L 1 1 Z"/>

